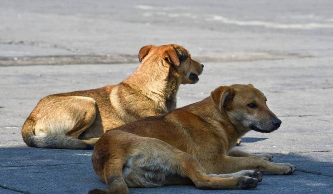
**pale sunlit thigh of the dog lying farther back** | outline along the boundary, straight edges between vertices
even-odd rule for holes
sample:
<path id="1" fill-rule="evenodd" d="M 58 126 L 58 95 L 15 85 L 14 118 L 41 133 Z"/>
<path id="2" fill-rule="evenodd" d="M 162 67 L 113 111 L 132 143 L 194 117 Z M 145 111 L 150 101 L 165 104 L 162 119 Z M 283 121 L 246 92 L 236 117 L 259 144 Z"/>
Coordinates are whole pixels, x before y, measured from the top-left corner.
<path id="1" fill-rule="evenodd" d="M 96 118 L 95 100 L 82 96 L 54 96 L 41 102 L 31 116 L 36 136 L 67 135 L 78 138 Z"/>

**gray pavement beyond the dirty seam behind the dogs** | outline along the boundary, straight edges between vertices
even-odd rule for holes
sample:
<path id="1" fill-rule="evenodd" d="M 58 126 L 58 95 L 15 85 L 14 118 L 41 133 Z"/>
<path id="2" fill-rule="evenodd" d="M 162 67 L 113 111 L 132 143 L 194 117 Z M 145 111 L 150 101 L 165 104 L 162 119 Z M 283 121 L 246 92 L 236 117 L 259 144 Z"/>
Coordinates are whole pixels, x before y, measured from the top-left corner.
<path id="1" fill-rule="evenodd" d="M 136 55 L 147 44 L 191 53 L 331 56 L 332 1 L 2 0 L 2 56 Z M 231 53 L 234 52 L 234 53 Z"/>

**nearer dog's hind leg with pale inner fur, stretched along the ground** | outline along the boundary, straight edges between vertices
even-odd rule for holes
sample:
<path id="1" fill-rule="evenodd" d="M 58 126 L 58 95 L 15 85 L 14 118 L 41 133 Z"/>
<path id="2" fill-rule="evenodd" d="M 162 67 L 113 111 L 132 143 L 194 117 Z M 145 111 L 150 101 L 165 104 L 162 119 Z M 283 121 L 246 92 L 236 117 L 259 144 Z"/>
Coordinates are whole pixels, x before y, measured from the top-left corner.
<path id="1" fill-rule="evenodd" d="M 209 176 L 203 173 L 199 163 L 190 154 L 161 140 L 150 139 L 149 143 L 140 145 L 140 149 L 142 147 L 145 149 L 140 151 L 141 154 L 137 152 L 124 165 L 126 170 L 123 170 L 123 176 L 129 187 L 184 184 L 191 181 L 198 188 L 250 189 L 255 188 L 259 182 L 241 173 L 230 177 Z"/>

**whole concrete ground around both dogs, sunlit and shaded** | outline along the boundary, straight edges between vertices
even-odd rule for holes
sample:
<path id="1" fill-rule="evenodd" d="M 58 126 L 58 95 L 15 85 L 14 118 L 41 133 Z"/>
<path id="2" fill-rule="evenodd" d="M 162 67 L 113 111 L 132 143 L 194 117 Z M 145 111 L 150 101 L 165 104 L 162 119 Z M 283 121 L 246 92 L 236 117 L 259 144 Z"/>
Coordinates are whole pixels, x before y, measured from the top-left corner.
<path id="1" fill-rule="evenodd" d="M 251 131 L 239 149 L 289 162 L 289 176 L 265 175 L 253 190 L 193 185 L 131 193 L 332 193 L 333 3 L 322 1 L 23 1 L 0 6 L 0 193 L 87 193 L 105 188 L 89 150 L 37 149 L 21 127 L 42 97 L 118 83 L 147 44 L 177 43 L 205 64 L 182 85 L 178 107 L 215 87 L 252 83 L 282 120 Z M 71 65 L 69 65 L 71 64 Z"/>

